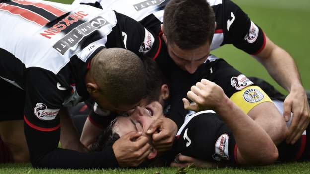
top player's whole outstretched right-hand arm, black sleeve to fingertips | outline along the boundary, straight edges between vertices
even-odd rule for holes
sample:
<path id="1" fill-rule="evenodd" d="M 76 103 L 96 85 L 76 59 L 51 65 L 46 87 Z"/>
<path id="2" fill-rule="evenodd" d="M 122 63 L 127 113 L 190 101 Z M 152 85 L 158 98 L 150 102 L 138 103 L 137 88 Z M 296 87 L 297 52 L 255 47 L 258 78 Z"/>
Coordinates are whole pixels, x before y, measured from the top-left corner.
<path id="1" fill-rule="evenodd" d="M 226 32 L 230 38 L 229 42 L 256 58 L 273 79 L 289 92 L 284 101 L 283 115 L 285 120 L 289 121 L 290 112 L 293 112 L 287 142 L 295 143 L 309 124 L 310 109 L 293 58 L 284 49 L 274 44 L 240 7 L 228 0 L 225 5 L 224 15 L 228 19 Z"/>

